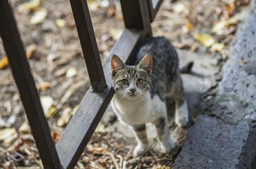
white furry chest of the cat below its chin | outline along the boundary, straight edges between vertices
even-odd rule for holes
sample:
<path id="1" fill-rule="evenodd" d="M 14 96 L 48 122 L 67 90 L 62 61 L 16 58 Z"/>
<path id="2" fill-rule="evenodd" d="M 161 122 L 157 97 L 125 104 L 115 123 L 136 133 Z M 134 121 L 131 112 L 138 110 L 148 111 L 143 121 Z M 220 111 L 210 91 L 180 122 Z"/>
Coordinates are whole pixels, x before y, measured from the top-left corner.
<path id="1" fill-rule="evenodd" d="M 158 96 L 123 101 L 114 96 L 111 104 L 118 118 L 129 125 L 153 122 L 157 117 L 166 115 L 165 103 Z"/>

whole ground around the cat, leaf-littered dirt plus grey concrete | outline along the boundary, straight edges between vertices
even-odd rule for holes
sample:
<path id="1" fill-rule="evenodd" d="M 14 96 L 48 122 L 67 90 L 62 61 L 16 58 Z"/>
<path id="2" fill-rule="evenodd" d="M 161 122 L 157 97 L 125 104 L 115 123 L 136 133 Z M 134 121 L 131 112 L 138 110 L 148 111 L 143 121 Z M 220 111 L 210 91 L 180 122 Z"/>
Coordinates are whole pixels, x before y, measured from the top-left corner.
<path id="1" fill-rule="evenodd" d="M 10 2 L 24 46 L 30 46 L 27 48 L 30 67 L 57 143 L 72 112 L 86 93 L 81 86 L 89 83 L 71 7 L 68 1 L 41 0 L 39 7 L 25 10 L 21 5 L 29 1 Z M 107 2 L 110 5 L 106 5 Z M 120 5 L 118 1 L 114 2 L 88 0 L 102 63 L 124 28 Z M 256 119 L 256 71 L 253 67 L 256 38 L 251 32 L 254 27 L 250 25 L 255 23 L 255 15 L 250 14 L 251 18 L 240 25 L 231 46 L 240 20 L 246 18 L 253 6 L 248 3 L 249 0 L 165 0 L 152 23 L 153 35 L 165 36 L 175 45 L 181 65 L 194 62 L 192 73 L 182 75 L 190 124 L 181 129 L 170 123 L 177 148 L 164 155 L 157 153 L 155 129 L 149 124 L 147 132 L 152 151 L 145 156 L 134 157 L 132 150 L 136 142 L 133 134 L 128 126 L 116 120 L 109 106 L 76 167 L 218 168 L 228 161 L 231 168 L 239 168 L 240 165 L 249 168 L 255 154 L 250 147 L 255 136 L 253 124 Z M 46 9 L 47 16 L 42 23 L 31 23 L 30 18 L 40 11 L 38 8 Z M 3 59 L 5 52 L 0 43 L 0 59 Z M 19 169 L 42 167 L 9 66 L 1 68 L 0 72 L 0 132 L 7 131 L 0 136 L 0 166 Z M 171 102 L 167 106 L 168 111 L 173 111 Z M 208 136 L 209 131 L 216 132 Z M 219 161 L 216 150 L 225 152 L 225 148 L 230 146 L 224 144 L 227 141 L 232 144 L 230 158 L 224 154 L 224 162 Z M 191 146 L 197 151 L 193 151 Z M 23 156 L 20 161 L 11 157 L 15 152 Z M 200 157 L 201 164 L 205 166 L 200 166 L 197 160 L 195 162 L 195 157 Z"/>

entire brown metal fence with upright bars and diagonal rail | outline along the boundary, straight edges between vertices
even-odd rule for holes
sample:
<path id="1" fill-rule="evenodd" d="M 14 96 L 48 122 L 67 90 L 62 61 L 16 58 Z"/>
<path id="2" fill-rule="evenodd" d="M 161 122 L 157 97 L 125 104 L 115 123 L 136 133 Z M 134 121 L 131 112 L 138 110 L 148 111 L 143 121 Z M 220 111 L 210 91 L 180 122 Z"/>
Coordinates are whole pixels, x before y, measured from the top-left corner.
<path id="1" fill-rule="evenodd" d="M 70 0 L 91 87 L 55 146 L 8 0 L 0 0 L 0 35 L 45 169 L 72 169 L 113 96 L 110 60 L 102 66 L 86 0 Z M 110 52 L 129 63 L 162 0 L 120 0 L 125 30 Z M 104 85 L 102 85 L 104 84 Z M 104 90 L 103 90 L 104 89 Z"/>

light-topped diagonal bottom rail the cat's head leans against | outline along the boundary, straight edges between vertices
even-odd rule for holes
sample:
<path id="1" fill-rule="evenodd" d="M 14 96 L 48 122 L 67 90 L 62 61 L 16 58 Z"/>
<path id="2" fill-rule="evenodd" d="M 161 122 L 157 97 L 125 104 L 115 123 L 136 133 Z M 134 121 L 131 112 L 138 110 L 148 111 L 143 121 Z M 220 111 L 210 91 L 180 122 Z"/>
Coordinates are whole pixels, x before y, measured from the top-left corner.
<path id="1" fill-rule="evenodd" d="M 123 31 L 103 66 L 109 86 L 111 86 L 110 60 L 112 55 L 116 54 L 126 63 L 130 62 L 142 38 L 144 38 L 142 31 L 128 29 Z M 91 90 L 90 88 L 86 93 L 56 145 L 64 169 L 72 169 L 76 165 L 114 94 L 111 88 L 107 88 L 102 93 L 90 92 Z"/>

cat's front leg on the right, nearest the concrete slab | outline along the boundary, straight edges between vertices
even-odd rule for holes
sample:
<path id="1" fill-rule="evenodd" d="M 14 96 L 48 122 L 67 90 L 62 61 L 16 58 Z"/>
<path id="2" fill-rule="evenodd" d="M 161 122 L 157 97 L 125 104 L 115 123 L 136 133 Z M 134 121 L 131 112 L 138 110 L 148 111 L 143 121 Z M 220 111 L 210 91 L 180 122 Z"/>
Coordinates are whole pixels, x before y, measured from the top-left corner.
<path id="1" fill-rule="evenodd" d="M 170 152 L 175 147 L 175 143 L 170 136 L 167 119 L 165 117 L 159 117 L 154 121 L 154 125 L 157 128 L 157 135 L 161 142 L 161 152 Z"/>

